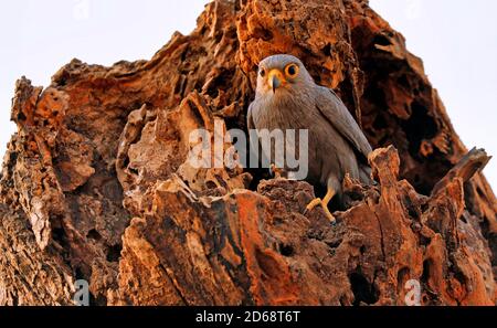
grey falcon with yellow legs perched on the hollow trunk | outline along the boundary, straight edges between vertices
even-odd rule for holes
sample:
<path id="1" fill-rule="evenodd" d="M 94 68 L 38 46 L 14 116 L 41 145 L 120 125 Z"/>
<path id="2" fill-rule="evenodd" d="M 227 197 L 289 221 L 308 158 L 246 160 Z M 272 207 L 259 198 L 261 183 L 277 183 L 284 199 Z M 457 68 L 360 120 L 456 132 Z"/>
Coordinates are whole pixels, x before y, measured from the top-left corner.
<path id="1" fill-rule="evenodd" d="M 328 203 L 334 198 L 342 202 L 341 186 L 346 174 L 364 184 L 372 183 L 368 165 L 371 145 L 337 94 L 316 84 L 296 56 L 276 54 L 260 62 L 255 97 L 248 106 L 246 120 L 247 128 L 256 131 L 308 130 L 305 180 L 326 188 L 327 192 L 322 199 L 311 200 L 304 213 L 321 205 L 326 216 L 335 223 Z"/>

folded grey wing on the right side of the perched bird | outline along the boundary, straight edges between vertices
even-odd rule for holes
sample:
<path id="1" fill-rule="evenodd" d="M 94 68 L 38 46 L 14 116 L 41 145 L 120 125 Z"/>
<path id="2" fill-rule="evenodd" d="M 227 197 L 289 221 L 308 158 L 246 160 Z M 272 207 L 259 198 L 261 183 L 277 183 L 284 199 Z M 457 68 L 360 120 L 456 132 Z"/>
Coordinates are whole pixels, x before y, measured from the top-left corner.
<path id="1" fill-rule="evenodd" d="M 369 145 L 361 128 L 335 92 L 327 87 L 317 86 L 316 107 L 367 161 L 368 155 L 372 151 L 371 145 Z"/>

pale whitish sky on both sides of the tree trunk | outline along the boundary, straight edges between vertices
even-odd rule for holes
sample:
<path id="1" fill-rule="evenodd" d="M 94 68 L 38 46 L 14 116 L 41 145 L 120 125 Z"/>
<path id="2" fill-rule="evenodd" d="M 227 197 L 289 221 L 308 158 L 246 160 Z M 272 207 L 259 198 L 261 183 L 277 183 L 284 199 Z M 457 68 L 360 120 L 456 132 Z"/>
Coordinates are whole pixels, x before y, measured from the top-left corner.
<path id="1" fill-rule="evenodd" d="M 14 82 L 46 86 L 77 57 L 110 65 L 150 59 L 178 30 L 188 34 L 203 0 L 19 0 L 0 2 L 0 156 Z M 497 155 L 497 1 L 370 0 L 423 59 L 456 131 L 468 148 Z M 497 187 L 497 157 L 485 169 Z"/>

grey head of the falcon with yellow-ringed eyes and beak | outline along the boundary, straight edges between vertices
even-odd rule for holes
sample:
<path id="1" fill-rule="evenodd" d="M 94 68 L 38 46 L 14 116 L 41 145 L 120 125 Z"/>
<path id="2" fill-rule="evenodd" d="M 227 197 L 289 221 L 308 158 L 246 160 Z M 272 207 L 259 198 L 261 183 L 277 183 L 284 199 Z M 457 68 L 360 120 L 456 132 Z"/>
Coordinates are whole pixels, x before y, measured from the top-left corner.
<path id="1" fill-rule="evenodd" d="M 258 64 L 257 94 L 261 96 L 296 94 L 313 84 L 304 64 L 293 55 L 272 55 Z"/>

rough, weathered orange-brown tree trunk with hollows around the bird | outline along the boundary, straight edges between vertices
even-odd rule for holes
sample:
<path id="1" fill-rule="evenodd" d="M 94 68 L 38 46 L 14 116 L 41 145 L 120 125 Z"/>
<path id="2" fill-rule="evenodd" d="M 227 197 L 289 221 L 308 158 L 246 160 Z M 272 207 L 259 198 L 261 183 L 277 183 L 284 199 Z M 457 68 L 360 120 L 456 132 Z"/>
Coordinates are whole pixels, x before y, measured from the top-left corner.
<path id="1" fill-rule="evenodd" d="M 262 170 L 194 169 L 189 134 L 245 129 L 256 64 L 303 60 L 374 148 L 377 186 L 320 194 Z M 0 304 L 491 305 L 497 202 L 420 59 L 367 1 L 214 1 L 150 61 L 77 60 L 17 83 L 0 177 Z M 224 144 L 226 149 L 230 144 Z M 408 295 L 409 296 L 409 295 Z"/>

